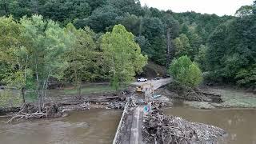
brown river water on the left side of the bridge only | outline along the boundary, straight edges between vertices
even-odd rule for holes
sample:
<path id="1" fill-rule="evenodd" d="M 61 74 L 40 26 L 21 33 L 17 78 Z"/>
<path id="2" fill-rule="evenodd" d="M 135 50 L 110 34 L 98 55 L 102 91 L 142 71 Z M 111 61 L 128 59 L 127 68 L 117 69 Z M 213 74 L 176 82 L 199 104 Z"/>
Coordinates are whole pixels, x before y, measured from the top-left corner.
<path id="1" fill-rule="evenodd" d="M 0 144 L 109 144 L 121 115 L 122 110 L 87 110 L 66 118 L 13 125 L 1 122 Z"/>

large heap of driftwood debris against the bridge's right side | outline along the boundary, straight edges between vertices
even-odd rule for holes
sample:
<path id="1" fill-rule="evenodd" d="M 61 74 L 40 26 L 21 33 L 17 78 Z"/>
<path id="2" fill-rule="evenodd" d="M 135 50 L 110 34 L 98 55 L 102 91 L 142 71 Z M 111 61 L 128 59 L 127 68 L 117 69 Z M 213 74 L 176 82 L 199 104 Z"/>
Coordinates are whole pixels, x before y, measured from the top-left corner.
<path id="1" fill-rule="evenodd" d="M 166 116 L 154 110 L 144 117 L 144 142 L 158 144 L 217 143 L 226 132 L 218 127 L 197 122 L 188 122 L 182 118 Z"/>

